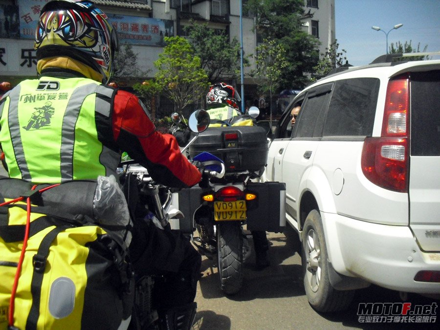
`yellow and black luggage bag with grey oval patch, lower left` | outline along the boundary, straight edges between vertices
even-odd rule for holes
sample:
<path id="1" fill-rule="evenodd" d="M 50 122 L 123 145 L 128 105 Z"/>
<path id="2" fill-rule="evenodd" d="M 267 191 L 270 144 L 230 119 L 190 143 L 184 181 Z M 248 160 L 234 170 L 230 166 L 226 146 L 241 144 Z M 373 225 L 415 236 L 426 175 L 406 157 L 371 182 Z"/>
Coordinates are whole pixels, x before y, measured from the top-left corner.
<path id="1" fill-rule="evenodd" d="M 72 191 L 63 183 L 32 197 L 29 238 L 14 299 L 16 329 L 118 329 L 131 315 L 133 279 L 125 244 L 111 230 L 86 221 L 91 218 L 61 219 L 45 212 L 51 204 L 45 203 L 46 192 L 70 196 L 64 199 L 68 203 L 93 196 L 96 182 L 75 186 L 82 188 Z M 31 187 L 19 179 L 0 179 L 0 203 L 26 196 Z M 73 208 L 66 205 L 60 214 L 65 210 Z M 26 216 L 24 202 L 0 207 L 1 330 L 8 329 Z"/>

